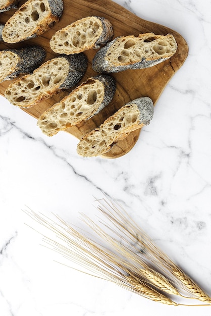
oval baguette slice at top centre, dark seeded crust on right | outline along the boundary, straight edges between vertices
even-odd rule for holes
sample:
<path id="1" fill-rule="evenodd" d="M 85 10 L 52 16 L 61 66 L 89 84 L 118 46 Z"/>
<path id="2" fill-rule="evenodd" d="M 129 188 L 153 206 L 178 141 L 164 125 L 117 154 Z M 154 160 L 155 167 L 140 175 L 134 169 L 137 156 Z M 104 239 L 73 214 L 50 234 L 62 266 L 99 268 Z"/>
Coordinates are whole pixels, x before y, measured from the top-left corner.
<path id="1" fill-rule="evenodd" d="M 91 48 L 99 48 L 113 37 L 109 20 L 91 16 L 78 20 L 57 31 L 50 39 L 50 48 L 59 54 L 78 54 Z"/>

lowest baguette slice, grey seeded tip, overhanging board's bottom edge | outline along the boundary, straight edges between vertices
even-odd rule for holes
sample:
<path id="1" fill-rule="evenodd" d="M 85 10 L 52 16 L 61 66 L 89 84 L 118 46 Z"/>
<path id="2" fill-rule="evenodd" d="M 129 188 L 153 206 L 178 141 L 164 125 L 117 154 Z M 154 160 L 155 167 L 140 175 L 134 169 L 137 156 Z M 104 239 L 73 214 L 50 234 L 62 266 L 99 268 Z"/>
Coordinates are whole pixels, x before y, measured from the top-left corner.
<path id="1" fill-rule="evenodd" d="M 154 106 L 149 97 L 140 97 L 128 102 L 99 128 L 86 134 L 78 143 L 77 152 L 83 157 L 102 155 L 109 151 L 118 140 L 132 131 L 149 124 Z"/>

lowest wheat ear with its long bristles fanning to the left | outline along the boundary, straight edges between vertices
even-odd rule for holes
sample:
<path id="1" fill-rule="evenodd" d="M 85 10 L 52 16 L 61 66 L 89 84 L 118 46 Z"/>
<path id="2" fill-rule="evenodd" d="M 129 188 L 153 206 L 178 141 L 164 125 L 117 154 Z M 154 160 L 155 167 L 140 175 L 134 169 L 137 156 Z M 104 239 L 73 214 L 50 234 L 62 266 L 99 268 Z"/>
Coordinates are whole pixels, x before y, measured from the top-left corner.
<path id="1" fill-rule="evenodd" d="M 57 219 L 62 225 L 49 218 L 40 216 L 32 210 L 25 212 L 38 223 L 57 234 L 60 240 L 59 242 L 46 236 L 43 239 L 51 249 L 56 250 L 71 261 L 79 263 L 81 267 L 89 270 L 93 276 L 115 282 L 119 286 L 136 292 L 150 300 L 169 305 L 178 305 L 164 294 L 150 288 L 147 284 L 144 284 L 143 281 L 134 276 L 121 264 L 121 258 L 118 258 L 118 256 L 114 255 L 114 253 L 108 249 L 96 245 L 58 216 Z M 64 245 L 63 242 L 65 242 L 66 245 Z"/>

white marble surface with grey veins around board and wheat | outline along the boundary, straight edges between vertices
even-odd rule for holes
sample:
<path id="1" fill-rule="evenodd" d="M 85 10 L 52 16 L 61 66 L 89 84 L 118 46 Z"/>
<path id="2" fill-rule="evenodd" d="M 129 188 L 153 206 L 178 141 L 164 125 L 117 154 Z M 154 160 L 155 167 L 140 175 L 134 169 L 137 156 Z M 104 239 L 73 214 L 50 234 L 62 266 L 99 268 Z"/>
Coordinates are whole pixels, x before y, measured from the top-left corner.
<path id="1" fill-rule="evenodd" d="M 178 31 L 189 56 L 156 104 L 135 147 L 116 160 L 83 159 L 77 139 L 48 138 L 0 98 L 0 315 L 210 315 L 174 307 L 54 261 L 28 228 L 25 205 L 80 225 L 102 192 L 120 200 L 149 235 L 211 295 L 211 2 L 116 0 Z"/>

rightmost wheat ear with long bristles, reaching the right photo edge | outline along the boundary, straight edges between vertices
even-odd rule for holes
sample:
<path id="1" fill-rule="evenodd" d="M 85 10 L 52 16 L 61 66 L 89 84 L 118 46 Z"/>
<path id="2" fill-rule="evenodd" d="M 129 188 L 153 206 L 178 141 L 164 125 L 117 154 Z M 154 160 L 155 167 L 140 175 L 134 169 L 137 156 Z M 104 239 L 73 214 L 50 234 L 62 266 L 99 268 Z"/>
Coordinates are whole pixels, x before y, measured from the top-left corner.
<path id="1" fill-rule="evenodd" d="M 181 286 L 189 294 L 193 294 L 190 298 L 199 299 L 207 304 L 211 303 L 208 294 L 155 245 L 121 205 L 114 201 L 102 199 L 97 208 L 114 225 L 116 234 L 124 240 L 126 247 L 133 249 L 141 259 L 150 261 L 163 274 L 167 274 L 170 279 L 176 281 L 178 286 Z M 113 229 L 112 231 L 114 232 Z"/>

